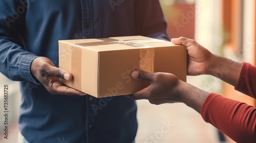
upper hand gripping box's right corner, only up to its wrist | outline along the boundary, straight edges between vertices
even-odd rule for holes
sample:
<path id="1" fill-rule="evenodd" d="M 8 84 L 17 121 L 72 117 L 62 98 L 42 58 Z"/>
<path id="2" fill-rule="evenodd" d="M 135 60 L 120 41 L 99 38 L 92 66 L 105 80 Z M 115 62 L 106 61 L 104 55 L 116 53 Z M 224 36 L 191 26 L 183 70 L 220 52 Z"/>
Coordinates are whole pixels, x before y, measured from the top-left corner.
<path id="1" fill-rule="evenodd" d="M 187 48 L 187 74 L 190 76 L 208 73 L 209 63 L 214 54 L 211 54 L 195 40 L 180 37 L 171 40 L 174 44 L 184 45 Z"/>

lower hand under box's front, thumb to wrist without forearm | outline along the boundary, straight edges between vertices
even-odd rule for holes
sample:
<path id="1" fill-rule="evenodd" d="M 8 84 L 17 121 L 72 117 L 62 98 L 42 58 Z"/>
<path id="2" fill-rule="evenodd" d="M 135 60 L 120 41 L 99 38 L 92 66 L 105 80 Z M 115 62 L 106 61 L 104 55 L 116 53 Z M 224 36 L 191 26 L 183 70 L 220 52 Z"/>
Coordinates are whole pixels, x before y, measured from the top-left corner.
<path id="1" fill-rule="evenodd" d="M 138 80 L 148 80 L 152 83 L 150 86 L 127 97 L 133 100 L 147 99 L 152 104 L 180 102 L 179 86 L 183 81 L 175 75 L 134 71 L 132 77 Z"/>

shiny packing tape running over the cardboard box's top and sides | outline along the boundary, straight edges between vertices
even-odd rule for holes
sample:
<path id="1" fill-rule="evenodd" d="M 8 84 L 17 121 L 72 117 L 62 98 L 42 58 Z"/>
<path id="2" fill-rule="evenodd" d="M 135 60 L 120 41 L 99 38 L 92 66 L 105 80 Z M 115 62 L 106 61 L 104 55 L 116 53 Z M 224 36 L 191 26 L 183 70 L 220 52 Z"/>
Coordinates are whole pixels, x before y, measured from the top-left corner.
<path id="1" fill-rule="evenodd" d="M 161 42 L 163 40 L 159 39 L 135 39 L 135 40 L 116 40 L 112 38 L 102 38 L 100 42 L 89 42 L 89 43 L 75 43 L 72 45 L 72 61 L 78 61 L 77 59 L 82 58 L 82 49 L 78 46 L 97 46 L 97 45 L 106 45 L 106 44 L 123 44 L 133 47 L 140 48 L 140 70 L 146 71 L 148 73 L 154 73 L 154 64 L 155 64 L 155 50 L 150 48 L 152 46 L 143 45 L 140 43 L 146 42 Z M 74 56 L 75 55 L 75 56 Z M 72 87 L 75 87 L 78 90 L 81 90 L 81 62 L 73 63 L 71 65 L 72 73 L 78 75 L 77 78 L 73 78 Z M 78 87 L 79 85 L 79 87 Z"/>

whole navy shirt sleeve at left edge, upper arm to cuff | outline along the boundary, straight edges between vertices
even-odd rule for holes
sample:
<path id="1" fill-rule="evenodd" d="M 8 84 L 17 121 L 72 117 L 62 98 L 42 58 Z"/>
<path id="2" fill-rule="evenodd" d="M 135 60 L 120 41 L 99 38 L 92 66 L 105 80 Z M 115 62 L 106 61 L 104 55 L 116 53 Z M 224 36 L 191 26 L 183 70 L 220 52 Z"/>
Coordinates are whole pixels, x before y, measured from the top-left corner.
<path id="1" fill-rule="evenodd" d="M 30 65 L 38 56 L 25 50 L 21 38 L 26 28 L 26 5 L 22 6 L 18 1 L 0 1 L 0 71 L 11 80 L 36 83 Z"/>

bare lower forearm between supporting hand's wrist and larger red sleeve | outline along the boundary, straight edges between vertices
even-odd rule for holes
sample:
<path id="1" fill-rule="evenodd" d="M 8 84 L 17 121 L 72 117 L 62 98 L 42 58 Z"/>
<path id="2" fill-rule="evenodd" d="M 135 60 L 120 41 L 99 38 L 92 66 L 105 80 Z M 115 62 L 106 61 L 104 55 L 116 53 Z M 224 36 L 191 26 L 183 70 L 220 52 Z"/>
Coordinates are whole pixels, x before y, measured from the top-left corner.
<path id="1" fill-rule="evenodd" d="M 179 100 L 200 113 L 209 93 L 183 81 L 179 84 Z"/>

